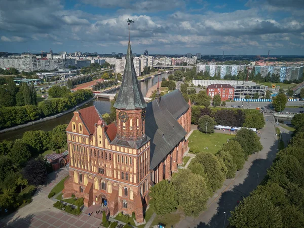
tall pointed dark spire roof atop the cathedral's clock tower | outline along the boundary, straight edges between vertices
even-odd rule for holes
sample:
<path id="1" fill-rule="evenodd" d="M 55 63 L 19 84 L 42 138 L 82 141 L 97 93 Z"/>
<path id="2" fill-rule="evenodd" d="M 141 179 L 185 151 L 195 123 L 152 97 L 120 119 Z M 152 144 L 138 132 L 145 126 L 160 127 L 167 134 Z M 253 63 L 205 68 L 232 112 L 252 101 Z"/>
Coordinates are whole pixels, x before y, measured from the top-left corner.
<path id="1" fill-rule="evenodd" d="M 131 44 L 129 41 L 122 86 L 119 90 L 114 107 L 117 109 L 134 110 L 143 109 L 146 106 L 137 81 Z"/>

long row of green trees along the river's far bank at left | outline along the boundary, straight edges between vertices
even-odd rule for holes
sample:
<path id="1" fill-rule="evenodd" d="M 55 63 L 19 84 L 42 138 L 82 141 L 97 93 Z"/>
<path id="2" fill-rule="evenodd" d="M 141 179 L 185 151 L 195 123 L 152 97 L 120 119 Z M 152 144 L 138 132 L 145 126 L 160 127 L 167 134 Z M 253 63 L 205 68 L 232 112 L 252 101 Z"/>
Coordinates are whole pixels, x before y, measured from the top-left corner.
<path id="1" fill-rule="evenodd" d="M 36 120 L 41 117 L 64 112 L 69 108 L 90 99 L 93 96 L 91 90 L 80 89 L 74 93 L 68 93 L 63 98 L 45 100 L 39 106 L 26 105 L 22 107 L 0 108 L 0 128 L 11 127 Z"/>

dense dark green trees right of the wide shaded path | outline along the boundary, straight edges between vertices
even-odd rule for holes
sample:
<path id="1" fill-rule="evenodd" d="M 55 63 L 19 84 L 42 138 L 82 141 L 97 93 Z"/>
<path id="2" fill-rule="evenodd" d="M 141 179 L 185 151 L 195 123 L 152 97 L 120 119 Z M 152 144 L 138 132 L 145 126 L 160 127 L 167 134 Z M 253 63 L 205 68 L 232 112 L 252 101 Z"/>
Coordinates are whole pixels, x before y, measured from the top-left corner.
<path id="1" fill-rule="evenodd" d="M 295 117 L 304 119 L 304 114 Z M 304 121 L 296 122 L 296 133 L 281 150 L 261 185 L 232 212 L 236 228 L 304 227 Z"/>

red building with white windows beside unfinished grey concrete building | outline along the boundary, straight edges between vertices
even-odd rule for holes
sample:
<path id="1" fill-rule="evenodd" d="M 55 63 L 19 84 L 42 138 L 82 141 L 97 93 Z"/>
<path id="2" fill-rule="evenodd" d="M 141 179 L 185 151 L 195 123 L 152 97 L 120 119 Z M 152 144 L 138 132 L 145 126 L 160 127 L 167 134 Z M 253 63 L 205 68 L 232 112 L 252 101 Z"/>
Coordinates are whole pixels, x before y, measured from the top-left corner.
<path id="1" fill-rule="evenodd" d="M 221 101 L 234 99 L 234 87 L 230 84 L 212 84 L 207 86 L 207 94 L 213 96 L 220 95 Z"/>

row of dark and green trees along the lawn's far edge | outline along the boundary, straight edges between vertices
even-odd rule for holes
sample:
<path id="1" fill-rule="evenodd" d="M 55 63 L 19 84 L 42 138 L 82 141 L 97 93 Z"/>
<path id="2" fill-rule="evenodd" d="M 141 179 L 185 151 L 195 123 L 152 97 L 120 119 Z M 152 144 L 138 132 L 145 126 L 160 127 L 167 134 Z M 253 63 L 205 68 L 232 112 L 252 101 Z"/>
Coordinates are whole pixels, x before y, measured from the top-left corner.
<path id="1" fill-rule="evenodd" d="M 192 107 L 191 122 L 193 124 L 199 124 L 199 119 L 204 115 L 209 116 L 212 121 L 215 121 L 217 124 L 225 126 L 251 127 L 260 129 L 265 124 L 263 114 L 255 109 L 219 109 L 201 106 Z"/>

